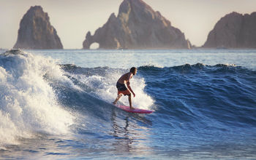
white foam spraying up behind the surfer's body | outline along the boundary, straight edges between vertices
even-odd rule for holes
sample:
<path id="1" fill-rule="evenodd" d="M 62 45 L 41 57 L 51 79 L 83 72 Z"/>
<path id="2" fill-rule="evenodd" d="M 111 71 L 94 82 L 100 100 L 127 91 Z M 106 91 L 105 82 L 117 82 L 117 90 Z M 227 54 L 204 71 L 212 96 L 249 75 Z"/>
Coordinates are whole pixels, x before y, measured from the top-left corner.
<path id="1" fill-rule="evenodd" d="M 122 73 L 119 71 L 111 71 L 106 76 L 72 76 L 75 76 L 81 83 L 89 87 L 90 89 L 87 89 L 87 91 L 90 90 L 90 92 L 94 92 L 94 94 L 99 96 L 102 100 L 112 103 L 117 96 L 116 81 L 121 75 Z M 132 96 L 132 104 L 138 108 L 152 109 L 151 107 L 154 104 L 154 100 L 144 91 L 144 88 L 146 87 L 144 79 L 136 75 L 130 82 L 130 85 L 136 94 L 135 97 Z M 127 96 L 122 96 L 120 102 L 124 103 L 124 105 L 129 105 Z"/>

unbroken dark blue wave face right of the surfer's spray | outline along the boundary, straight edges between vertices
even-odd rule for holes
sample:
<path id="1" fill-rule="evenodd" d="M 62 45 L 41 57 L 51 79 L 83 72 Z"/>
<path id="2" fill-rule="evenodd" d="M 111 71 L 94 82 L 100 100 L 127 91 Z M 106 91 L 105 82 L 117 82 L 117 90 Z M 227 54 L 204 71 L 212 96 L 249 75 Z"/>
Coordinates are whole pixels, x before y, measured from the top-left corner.
<path id="1" fill-rule="evenodd" d="M 168 68 L 142 66 L 139 72 L 159 113 L 174 116 L 173 122 L 221 129 L 256 127 L 255 71 L 233 64 L 197 63 Z"/>

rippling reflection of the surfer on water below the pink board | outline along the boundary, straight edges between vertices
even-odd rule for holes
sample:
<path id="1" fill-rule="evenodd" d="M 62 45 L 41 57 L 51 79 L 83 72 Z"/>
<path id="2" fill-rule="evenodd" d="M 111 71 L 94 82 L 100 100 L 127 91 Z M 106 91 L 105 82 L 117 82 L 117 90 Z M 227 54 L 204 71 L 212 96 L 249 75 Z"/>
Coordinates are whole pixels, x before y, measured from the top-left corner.
<path id="1" fill-rule="evenodd" d="M 116 108 L 111 114 L 113 135 L 116 140 L 112 143 L 117 153 L 148 153 L 151 148 L 146 144 L 149 140 L 148 127 L 141 126 L 138 121 L 151 124 L 145 117 L 133 113 L 127 113 L 124 119 L 116 116 Z"/>

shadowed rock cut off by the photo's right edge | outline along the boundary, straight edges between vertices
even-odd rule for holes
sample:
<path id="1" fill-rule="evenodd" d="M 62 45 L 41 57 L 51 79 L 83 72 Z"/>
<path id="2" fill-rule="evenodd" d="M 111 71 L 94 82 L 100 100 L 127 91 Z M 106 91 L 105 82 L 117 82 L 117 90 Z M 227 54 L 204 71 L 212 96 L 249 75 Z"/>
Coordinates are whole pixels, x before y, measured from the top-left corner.
<path id="1" fill-rule="evenodd" d="M 204 48 L 256 48 L 256 12 L 232 12 L 222 17 L 208 34 Z"/>

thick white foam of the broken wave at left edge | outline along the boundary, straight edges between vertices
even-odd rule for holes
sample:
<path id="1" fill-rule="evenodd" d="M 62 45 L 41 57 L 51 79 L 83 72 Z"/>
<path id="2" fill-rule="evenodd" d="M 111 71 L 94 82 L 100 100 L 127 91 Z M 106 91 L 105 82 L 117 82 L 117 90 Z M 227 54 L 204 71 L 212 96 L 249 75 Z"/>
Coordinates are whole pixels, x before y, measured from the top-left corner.
<path id="1" fill-rule="evenodd" d="M 37 132 L 69 132 L 72 115 L 58 104 L 45 75 L 69 81 L 51 58 L 20 50 L 0 55 L 0 146 Z"/>

